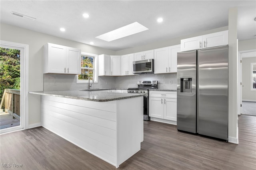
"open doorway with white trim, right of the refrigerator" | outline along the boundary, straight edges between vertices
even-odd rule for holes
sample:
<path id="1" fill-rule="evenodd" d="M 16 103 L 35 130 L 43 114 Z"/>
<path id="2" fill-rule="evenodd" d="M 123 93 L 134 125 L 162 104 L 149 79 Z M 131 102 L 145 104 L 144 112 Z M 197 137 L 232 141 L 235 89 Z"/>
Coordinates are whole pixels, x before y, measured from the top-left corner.
<path id="1" fill-rule="evenodd" d="M 256 49 L 239 51 L 238 82 L 240 82 L 238 115 L 256 116 Z"/>

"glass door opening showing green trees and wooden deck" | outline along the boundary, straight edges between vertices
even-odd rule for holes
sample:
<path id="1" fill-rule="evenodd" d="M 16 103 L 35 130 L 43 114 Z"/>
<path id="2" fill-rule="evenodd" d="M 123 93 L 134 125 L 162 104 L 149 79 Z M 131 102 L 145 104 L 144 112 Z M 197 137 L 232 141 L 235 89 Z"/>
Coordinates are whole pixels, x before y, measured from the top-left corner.
<path id="1" fill-rule="evenodd" d="M 20 50 L 0 47 L 0 129 L 20 126 Z"/>

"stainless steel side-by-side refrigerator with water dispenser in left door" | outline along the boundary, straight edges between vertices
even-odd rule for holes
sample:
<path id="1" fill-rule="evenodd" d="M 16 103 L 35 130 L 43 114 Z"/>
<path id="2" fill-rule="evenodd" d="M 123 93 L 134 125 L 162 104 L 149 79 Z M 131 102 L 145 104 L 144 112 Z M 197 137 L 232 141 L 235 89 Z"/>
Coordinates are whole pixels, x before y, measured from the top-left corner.
<path id="1" fill-rule="evenodd" d="M 228 140 L 228 45 L 178 52 L 177 129 Z"/>

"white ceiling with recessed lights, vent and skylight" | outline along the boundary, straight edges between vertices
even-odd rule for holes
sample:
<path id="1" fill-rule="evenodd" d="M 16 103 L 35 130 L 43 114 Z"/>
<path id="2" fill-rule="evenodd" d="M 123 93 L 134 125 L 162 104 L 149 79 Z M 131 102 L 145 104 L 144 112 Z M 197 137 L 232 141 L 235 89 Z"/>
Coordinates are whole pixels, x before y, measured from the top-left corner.
<path id="1" fill-rule="evenodd" d="M 196 32 L 228 26 L 228 9 L 238 7 L 238 40 L 256 35 L 255 0 L 221 1 L 32 1 L 1 0 L 0 21 L 36 32 L 118 51 Z M 35 21 L 11 15 L 18 12 Z M 89 18 L 82 14 L 88 13 Z M 157 23 L 162 17 L 164 21 Z M 133 22 L 149 28 L 125 38 L 106 42 L 95 38 Z M 60 27 L 66 29 L 60 32 Z"/>

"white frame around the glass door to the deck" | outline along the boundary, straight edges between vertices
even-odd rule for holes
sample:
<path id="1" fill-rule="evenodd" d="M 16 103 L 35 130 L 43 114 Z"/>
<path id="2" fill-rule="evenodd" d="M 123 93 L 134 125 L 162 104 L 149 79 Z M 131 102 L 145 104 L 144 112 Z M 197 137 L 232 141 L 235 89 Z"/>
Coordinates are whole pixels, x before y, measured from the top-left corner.
<path id="1" fill-rule="evenodd" d="M 0 134 L 28 129 L 28 45 L 0 40 L 0 47 L 20 50 L 20 126 L 1 129 Z"/>

